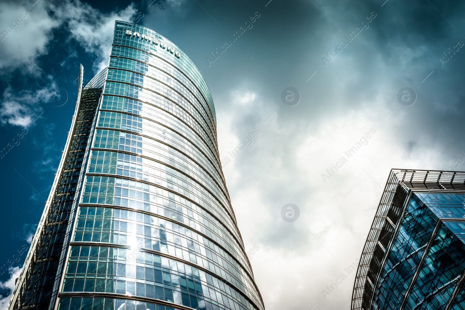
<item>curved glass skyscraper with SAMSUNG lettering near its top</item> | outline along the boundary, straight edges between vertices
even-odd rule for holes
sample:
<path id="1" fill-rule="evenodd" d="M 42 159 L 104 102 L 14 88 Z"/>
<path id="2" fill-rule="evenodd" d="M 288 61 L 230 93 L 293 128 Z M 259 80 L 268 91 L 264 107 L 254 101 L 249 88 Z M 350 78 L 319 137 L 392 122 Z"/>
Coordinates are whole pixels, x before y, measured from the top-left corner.
<path id="1" fill-rule="evenodd" d="M 189 57 L 116 21 L 108 67 L 79 85 L 8 309 L 264 310 Z"/>

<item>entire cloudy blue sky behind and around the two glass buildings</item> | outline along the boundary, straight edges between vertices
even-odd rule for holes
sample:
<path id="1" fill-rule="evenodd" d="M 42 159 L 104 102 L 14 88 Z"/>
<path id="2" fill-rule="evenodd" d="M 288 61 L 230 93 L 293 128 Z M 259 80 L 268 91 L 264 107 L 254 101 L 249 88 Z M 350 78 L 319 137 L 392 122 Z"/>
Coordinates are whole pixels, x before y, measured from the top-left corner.
<path id="1" fill-rule="evenodd" d="M 390 169 L 465 170 L 463 1 L 36 1 L 0 3 L 0 310 L 58 168 L 79 65 L 84 81 L 106 66 L 114 20 L 162 34 L 201 70 L 266 310 L 350 309 L 347 268 Z"/>

